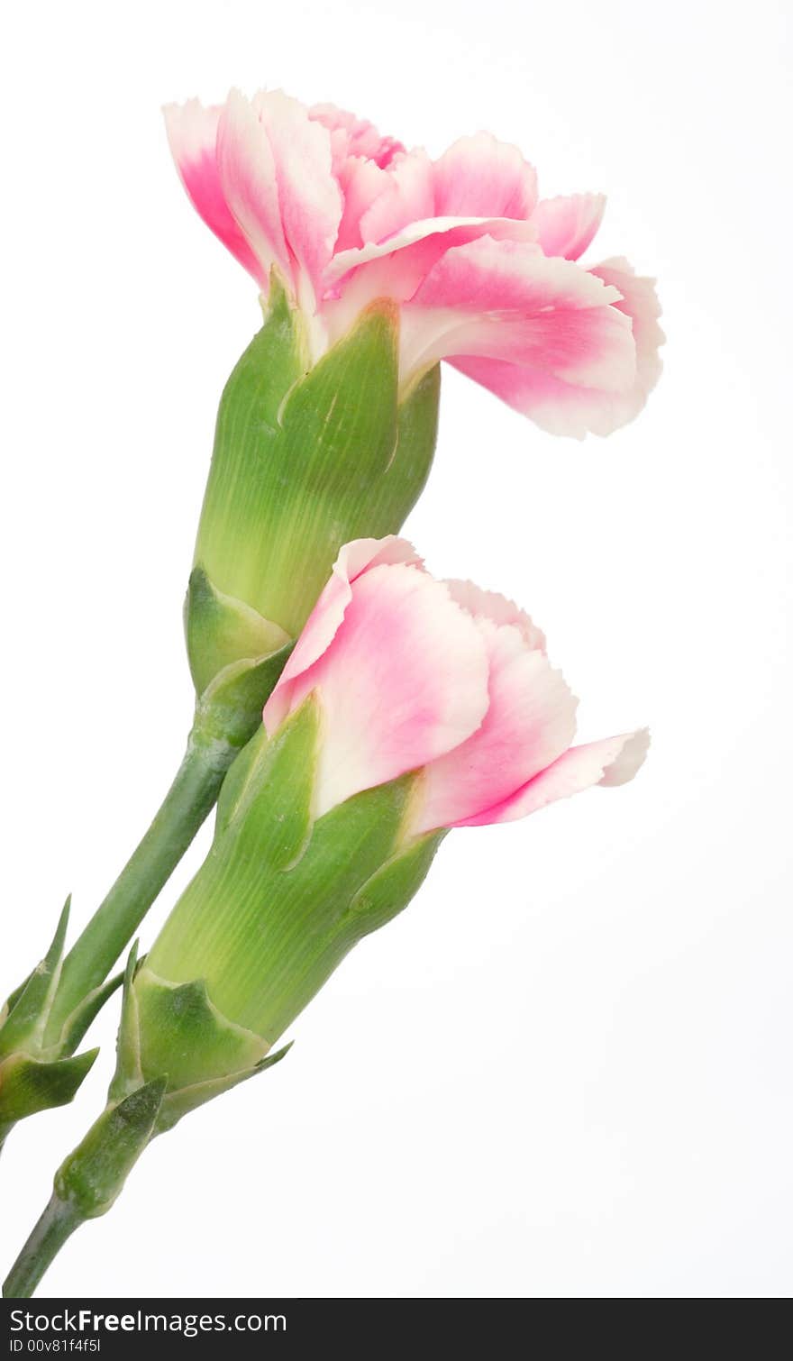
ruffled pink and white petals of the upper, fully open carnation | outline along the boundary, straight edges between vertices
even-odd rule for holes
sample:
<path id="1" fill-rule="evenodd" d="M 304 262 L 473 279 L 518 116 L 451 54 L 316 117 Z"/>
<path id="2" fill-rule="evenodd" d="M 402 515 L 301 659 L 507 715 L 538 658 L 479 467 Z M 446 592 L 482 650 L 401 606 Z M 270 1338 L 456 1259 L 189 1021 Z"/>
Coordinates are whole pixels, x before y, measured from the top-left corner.
<path id="1" fill-rule="evenodd" d="M 267 291 L 275 267 L 313 359 L 374 298 L 400 305 L 400 377 L 448 359 L 555 434 L 609 434 L 660 373 L 653 282 L 582 267 L 601 195 L 537 199 L 533 167 L 487 132 L 438 161 L 282 91 L 165 110 L 204 222 Z"/>

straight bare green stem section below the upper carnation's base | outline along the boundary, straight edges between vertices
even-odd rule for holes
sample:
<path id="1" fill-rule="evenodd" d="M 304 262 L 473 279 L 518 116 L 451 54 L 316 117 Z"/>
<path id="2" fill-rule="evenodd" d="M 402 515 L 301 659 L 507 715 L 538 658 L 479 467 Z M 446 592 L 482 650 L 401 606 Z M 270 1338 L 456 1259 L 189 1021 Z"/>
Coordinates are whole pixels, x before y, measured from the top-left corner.
<path id="1" fill-rule="evenodd" d="M 235 755 L 235 746 L 190 732 L 159 813 L 64 960 L 45 1043 L 57 1043 L 75 1007 L 106 979 L 215 806 Z"/>

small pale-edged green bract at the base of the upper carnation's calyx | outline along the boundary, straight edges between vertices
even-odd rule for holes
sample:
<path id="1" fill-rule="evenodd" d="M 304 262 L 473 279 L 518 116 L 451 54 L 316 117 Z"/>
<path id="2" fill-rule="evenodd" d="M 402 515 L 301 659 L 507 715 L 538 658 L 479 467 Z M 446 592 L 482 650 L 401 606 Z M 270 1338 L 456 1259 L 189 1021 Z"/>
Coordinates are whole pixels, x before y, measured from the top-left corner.
<path id="1" fill-rule="evenodd" d="M 268 657 L 290 641 L 277 623 L 219 591 L 200 563 L 188 583 L 185 638 L 199 697 L 226 667 Z"/>

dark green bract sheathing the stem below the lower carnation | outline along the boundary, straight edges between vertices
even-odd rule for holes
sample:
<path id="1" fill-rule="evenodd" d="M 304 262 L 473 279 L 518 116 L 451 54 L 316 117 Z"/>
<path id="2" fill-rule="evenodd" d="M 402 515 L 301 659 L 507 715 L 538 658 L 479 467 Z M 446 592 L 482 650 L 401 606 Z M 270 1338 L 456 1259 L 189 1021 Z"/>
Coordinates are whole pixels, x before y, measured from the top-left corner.
<path id="1" fill-rule="evenodd" d="M 60 1200 L 86 1219 L 110 1209 L 155 1131 L 165 1089 L 156 1078 L 102 1112 L 56 1172 Z"/>

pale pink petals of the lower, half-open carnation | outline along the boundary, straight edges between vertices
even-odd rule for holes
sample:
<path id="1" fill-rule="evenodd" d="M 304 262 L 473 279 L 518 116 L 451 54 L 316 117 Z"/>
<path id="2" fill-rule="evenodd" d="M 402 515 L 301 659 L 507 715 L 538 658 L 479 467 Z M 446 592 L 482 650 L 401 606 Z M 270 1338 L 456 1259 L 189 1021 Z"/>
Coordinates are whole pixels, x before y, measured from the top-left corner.
<path id="1" fill-rule="evenodd" d="M 321 710 L 314 815 L 422 772 L 407 836 L 509 822 L 624 784 L 646 729 L 571 746 L 575 700 L 510 600 L 437 581 L 404 539 L 341 548 L 264 709 L 269 736 L 313 694 Z"/>

